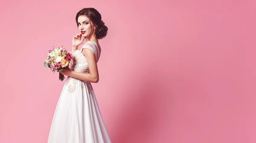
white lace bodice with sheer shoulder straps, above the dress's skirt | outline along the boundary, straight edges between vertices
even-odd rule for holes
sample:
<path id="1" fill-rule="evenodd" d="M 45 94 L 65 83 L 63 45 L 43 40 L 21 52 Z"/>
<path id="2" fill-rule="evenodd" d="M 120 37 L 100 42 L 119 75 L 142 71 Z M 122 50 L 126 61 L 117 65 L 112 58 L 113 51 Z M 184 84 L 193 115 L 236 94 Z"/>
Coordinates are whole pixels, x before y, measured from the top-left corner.
<path id="1" fill-rule="evenodd" d="M 99 61 L 99 56 L 101 51 L 98 45 L 96 44 L 96 42 L 87 41 L 86 43 L 90 43 L 91 46 L 83 45 L 80 50 L 76 50 L 73 53 L 74 59 L 73 59 L 73 65 L 70 68 L 71 70 L 74 70 L 79 73 L 90 73 L 87 60 L 83 55 L 83 53 L 81 53 L 82 49 L 84 48 L 90 49 L 95 54 L 96 62 Z"/>

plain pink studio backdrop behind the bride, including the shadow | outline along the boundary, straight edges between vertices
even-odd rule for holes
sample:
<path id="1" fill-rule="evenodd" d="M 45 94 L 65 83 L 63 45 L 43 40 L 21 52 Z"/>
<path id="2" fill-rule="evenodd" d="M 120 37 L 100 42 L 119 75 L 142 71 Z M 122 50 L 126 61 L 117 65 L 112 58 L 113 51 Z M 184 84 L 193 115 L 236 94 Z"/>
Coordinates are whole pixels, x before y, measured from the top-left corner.
<path id="1" fill-rule="evenodd" d="M 44 59 L 84 7 L 109 28 L 93 88 L 113 143 L 256 142 L 255 1 L 5 0 L 0 143 L 47 143 L 64 82 Z"/>

